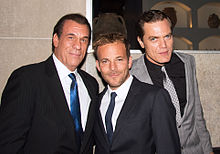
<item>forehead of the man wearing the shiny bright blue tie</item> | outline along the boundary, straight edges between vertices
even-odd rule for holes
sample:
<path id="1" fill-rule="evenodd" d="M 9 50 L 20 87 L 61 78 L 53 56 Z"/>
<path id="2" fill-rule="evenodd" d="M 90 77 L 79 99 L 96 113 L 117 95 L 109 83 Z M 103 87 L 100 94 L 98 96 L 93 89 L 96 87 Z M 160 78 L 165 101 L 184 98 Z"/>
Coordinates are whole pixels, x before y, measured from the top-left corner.
<path id="1" fill-rule="evenodd" d="M 80 32 L 84 35 L 89 35 L 89 29 L 88 26 L 85 24 L 79 24 L 76 21 L 73 20 L 66 20 L 63 24 L 63 33 L 69 33 L 69 32 Z"/>

